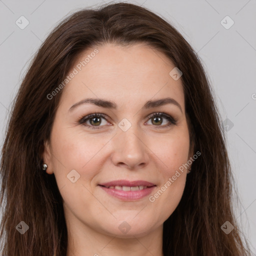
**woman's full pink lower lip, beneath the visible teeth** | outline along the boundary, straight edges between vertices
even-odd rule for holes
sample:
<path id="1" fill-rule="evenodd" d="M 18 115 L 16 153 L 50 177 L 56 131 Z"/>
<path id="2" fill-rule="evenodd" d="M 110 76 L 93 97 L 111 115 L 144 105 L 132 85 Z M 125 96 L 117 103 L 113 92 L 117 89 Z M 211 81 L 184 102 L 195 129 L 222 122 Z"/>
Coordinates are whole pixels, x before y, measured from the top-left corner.
<path id="1" fill-rule="evenodd" d="M 100 187 L 104 191 L 106 191 L 108 194 L 114 197 L 117 197 L 121 200 L 137 200 L 150 194 L 155 186 L 149 186 L 147 188 L 143 188 L 141 190 L 136 190 L 136 191 L 123 191 L 123 190 L 117 190 L 114 188 L 107 188 L 105 186 L 100 186 Z"/>

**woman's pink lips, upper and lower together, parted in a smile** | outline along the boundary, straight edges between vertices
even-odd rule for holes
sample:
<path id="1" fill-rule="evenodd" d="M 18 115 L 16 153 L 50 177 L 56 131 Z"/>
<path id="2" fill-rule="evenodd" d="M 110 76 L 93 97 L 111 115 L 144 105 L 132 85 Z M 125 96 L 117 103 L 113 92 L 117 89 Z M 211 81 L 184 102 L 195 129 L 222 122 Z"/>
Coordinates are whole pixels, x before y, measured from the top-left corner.
<path id="1" fill-rule="evenodd" d="M 108 194 L 117 197 L 121 200 L 137 200 L 140 199 L 148 194 L 151 193 L 151 191 L 154 189 L 155 184 L 145 181 L 145 180 L 134 180 L 129 181 L 125 179 L 119 179 L 119 180 L 113 180 L 106 183 L 101 183 L 99 186 Z M 147 186 L 146 188 L 143 188 L 141 190 L 136 191 L 123 191 L 123 190 L 117 190 L 114 188 L 108 188 L 109 186 Z"/>

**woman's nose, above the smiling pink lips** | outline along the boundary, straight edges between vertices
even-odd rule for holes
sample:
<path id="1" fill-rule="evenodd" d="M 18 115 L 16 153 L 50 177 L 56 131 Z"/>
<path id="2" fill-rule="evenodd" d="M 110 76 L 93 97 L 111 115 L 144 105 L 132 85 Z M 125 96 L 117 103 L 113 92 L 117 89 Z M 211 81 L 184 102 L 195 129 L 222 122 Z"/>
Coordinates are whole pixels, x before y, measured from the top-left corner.
<path id="1" fill-rule="evenodd" d="M 148 164 L 150 151 L 142 131 L 131 126 L 127 131 L 121 129 L 113 138 L 111 160 L 116 166 L 126 166 L 129 169 L 144 167 Z"/>

